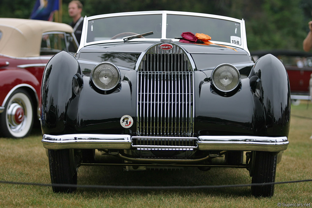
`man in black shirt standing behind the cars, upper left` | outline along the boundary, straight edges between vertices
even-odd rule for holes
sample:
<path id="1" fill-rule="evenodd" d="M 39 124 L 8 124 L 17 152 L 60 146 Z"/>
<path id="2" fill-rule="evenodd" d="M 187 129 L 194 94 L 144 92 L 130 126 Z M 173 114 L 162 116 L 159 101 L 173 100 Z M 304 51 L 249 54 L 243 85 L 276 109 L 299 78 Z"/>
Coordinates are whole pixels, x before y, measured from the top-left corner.
<path id="1" fill-rule="evenodd" d="M 81 17 L 82 8 L 82 3 L 77 0 L 73 0 L 68 4 L 69 16 L 73 18 L 73 22 L 71 22 L 69 25 L 74 28 L 74 33 L 79 44 L 83 26 L 83 17 Z"/>

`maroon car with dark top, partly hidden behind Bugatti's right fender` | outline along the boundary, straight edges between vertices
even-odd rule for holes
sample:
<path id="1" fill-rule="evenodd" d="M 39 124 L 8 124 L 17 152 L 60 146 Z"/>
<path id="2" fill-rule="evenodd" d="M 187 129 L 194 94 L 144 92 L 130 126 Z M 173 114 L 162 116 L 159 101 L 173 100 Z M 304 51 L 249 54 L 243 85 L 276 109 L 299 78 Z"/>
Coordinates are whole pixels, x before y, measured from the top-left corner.
<path id="1" fill-rule="evenodd" d="M 255 61 L 266 54 L 277 57 L 285 66 L 289 77 L 292 103 L 297 100 L 311 100 L 310 79 L 312 74 L 312 53 L 291 50 L 251 51 Z"/>

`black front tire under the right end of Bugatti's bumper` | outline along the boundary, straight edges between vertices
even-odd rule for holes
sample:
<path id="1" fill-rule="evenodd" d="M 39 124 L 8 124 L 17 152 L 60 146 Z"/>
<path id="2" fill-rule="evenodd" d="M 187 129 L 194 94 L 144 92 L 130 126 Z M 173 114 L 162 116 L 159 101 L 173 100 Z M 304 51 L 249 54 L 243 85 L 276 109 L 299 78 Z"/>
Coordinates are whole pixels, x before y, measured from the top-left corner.
<path id="1" fill-rule="evenodd" d="M 275 182 L 277 155 L 275 152 L 260 152 L 254 154 L 254 171 L 251 183 Z M 256 197 L 271 197 L 274 194 L 274 184 L 251 186 L 251 194 Z"/>

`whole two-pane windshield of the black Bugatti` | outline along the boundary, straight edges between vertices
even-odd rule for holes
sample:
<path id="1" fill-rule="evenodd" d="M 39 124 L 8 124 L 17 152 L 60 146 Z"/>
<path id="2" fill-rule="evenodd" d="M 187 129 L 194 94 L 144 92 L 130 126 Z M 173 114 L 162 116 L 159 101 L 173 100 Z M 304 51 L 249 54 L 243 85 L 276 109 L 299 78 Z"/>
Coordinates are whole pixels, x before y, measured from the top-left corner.
<path id="1" fill-rule="evenodd" d="M 163 16 L 164 15 L 164 16 Z M 166 17 L 166 18 L 165 18 Z M 162 34 L 162 18 L 166 19 L 166 34 Z M 154 34 L 140 38 L 181 38 L 183 32 L 203 33 L 211 41 L 241 46 L 241 24 L 232 18 L 214 18 L 185 14 L 135 14 L 91 19 L 87 24 L 86 42 L 122 40 L 123 37 L 153 31 Z"/>

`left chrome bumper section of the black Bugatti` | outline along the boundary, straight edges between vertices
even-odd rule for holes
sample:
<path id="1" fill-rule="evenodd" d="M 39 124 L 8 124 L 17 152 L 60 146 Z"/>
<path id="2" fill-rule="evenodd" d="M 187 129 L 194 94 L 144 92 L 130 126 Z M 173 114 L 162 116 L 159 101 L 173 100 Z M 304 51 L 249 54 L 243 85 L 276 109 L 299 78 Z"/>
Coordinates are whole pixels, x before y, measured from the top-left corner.
<path id="1" fill-rule="evenodd" d="M 130 149 L 130 135 L 117 134 L 44 134 L 41 140 L 47 149 Z"/>

